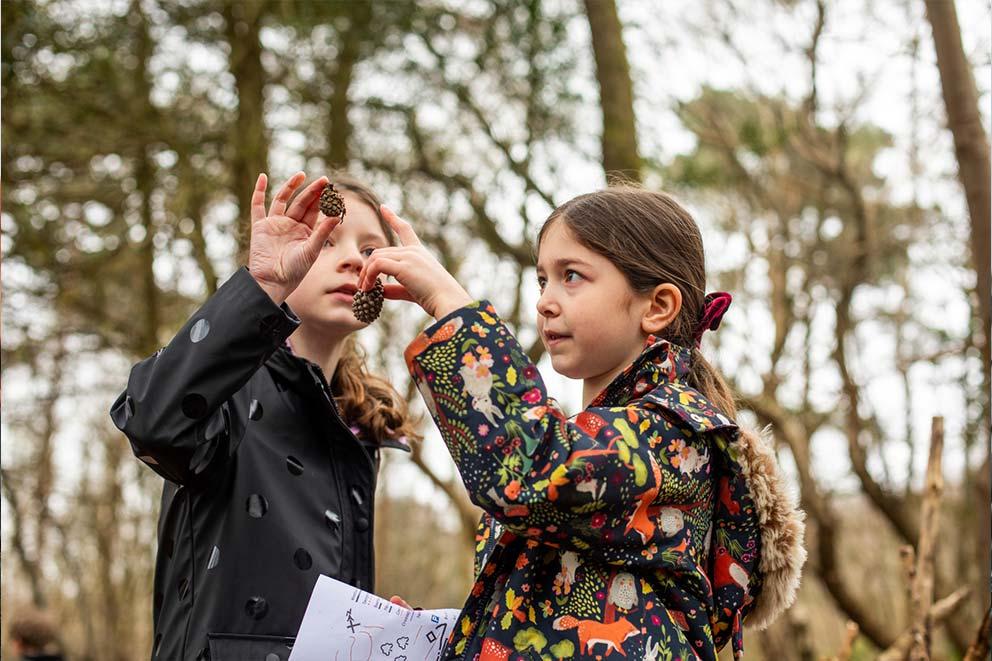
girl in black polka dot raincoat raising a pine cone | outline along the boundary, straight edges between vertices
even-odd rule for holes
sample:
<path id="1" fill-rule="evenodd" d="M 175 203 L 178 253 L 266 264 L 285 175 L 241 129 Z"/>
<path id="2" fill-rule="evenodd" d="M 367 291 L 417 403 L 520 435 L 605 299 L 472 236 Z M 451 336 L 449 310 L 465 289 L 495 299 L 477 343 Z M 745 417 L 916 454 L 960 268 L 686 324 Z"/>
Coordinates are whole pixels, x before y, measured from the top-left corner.
<path id="1" fill-rule="evenodd" d="M 289 657 L 319 574 L 373 589 L 379 451 L 414 436 L 402 397 L 351 337 L 358 274 L 393 244 L 379 201 L 345 177 L 347 222 L 297 173 L 251 203 L 240 269 L 131 370 L 111 417 L 165 478 L 153 659 Z"/>

